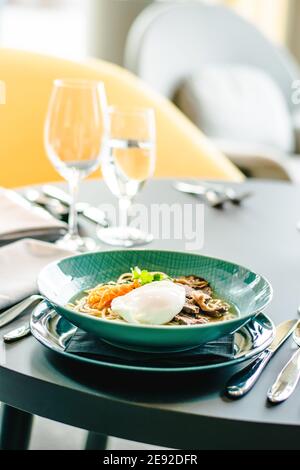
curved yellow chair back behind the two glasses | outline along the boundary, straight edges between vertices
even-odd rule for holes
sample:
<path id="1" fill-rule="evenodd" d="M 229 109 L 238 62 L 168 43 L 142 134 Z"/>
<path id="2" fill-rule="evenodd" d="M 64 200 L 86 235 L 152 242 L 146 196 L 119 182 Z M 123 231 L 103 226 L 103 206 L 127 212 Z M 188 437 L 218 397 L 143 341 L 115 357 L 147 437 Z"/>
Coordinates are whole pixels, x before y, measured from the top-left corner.
<path id="1" fill-rule="evenodd" d="M 44 120 L 56 78 L 102 80 L 110 104 L 153 107 L 158 139 L 156 176 L 243 179 L 175 106 L 126 70 L 103 61 L 76 63 L 0 49 L 0 81 L 6 88 L 6 104 L 0 104 L 0 186 L 59 179 L 43 143 Z"/>

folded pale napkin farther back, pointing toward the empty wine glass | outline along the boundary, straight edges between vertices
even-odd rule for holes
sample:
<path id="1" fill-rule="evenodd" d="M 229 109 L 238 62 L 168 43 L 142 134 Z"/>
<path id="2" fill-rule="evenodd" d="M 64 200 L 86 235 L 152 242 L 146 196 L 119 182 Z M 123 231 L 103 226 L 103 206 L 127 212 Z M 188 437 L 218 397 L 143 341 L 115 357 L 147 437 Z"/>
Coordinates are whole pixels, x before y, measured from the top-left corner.
<path id="1" fill-rule="evenodd" d="M 0 244 L 24 237 L 54 241 L 66 230 L 63 222 L 19 194 L 0 188 Z"/>

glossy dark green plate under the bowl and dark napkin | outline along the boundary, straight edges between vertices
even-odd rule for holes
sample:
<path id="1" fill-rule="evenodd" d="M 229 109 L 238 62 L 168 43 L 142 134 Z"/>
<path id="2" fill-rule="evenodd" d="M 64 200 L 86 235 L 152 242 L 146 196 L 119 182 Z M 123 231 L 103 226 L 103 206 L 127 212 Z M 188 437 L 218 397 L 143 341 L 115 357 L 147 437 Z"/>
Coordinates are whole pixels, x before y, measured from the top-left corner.
<path id="1" fill-rule="evenodd" d="M 76 333 L 77 327 L 61 317 L 46 302 L 41 302 L 33 311 L 30 321 L 32 335 L 51 351 L 55 351 L 69 359 L 85 364 L 108 367 L 118 370 L 138 372 L 200 372 L 221 367 L 235 366 L 241 362 L 254 358 L 272 343 L 275 337 L 275 327 L 270 318 L 260 313 L 241 327 L 234 334 L 234 357 L 220 359 L 219 362 L 208 362 L 194 366 L 180 367 L 153 367 L 140 365 L 127 365 L 117 362 L 108 362 L 72 354 L 66 350 L 70 340 Z"/>

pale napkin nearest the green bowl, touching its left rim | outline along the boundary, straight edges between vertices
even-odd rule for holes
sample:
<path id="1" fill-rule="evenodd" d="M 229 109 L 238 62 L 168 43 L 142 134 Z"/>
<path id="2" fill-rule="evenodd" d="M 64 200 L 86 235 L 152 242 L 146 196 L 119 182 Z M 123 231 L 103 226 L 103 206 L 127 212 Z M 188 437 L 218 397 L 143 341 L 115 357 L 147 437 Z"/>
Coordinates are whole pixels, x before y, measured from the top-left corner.
<path id="1" fill-rule="evenodd" d="M 73 254 L 51 243 L 31 239 L 0 248 L 0 310 L 36 294 L 41 269 Z"/>

